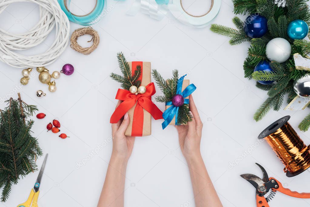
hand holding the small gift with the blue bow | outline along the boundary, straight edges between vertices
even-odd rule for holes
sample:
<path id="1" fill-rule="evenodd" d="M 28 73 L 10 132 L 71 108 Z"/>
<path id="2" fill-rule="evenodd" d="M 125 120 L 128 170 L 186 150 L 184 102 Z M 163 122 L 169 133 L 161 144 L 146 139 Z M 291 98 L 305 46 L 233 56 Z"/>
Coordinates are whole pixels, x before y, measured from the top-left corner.
<path id="1" fill-rule="evenodd" d="M 187 161 L 201 157 L 200 140 L 202 122 L 192 95 L 189 95 L 189 110 L 193 115 L 193 121 L 188 122 L 188 125 L 175 126 L 179 133 L 181 151 Z"/>

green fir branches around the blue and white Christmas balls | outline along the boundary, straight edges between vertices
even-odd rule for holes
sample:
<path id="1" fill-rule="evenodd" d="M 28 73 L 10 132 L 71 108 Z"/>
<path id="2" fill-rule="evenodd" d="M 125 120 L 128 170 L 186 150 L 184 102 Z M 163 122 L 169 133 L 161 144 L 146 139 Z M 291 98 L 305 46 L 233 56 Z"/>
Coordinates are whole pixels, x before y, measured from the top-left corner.
<path id="1" fill-rule="evenodd" d="M 299 53 L 303 56 L 310 53 L 310 42 L 307 40 L 292 40 L 287 35 L 287 26 L 293 20 L 303 20 L 310 25 L 310 11 L 307 0 L 286 1 L 286 7 L 277 7 L 273 0 L 233 0 L 234 13 L 241 15 L 259 14 L 267 18 L 268 32 L 260 38 L 250 38 L 243 30 L 243 21 L 235 16 L 232 19 L 237 29 L 223 25 L 212 24 L 211 31 L 230 37 L 229 43 L 237 45 L 242 42 L 250 42 L 247 57 L 243 63 L 244 76 L 258 81 L 275 81 L 269 85 L 257 83 L 256 86 L 268 91 L 268 98 L 263 102 L 254 114 L 256 121 L 261 120 L 270 109 L 280 110 L 285 95 L 288 95 L 287 103 L 296 96 L 293 90 L 293 81 L 309 75 L 308 71 L 296 70 L 293 55 Z M 290 58 L 284 63 L 272 61 L 270 64 L 274 72 L 253 73 L 255 66 L 268 60 L 266 57 L 267 43 L 276 37 L 286 39 L 291 44 Z M 306 131 L 310 126 L 310 114 L 299 124 L 299 129 Z"/>

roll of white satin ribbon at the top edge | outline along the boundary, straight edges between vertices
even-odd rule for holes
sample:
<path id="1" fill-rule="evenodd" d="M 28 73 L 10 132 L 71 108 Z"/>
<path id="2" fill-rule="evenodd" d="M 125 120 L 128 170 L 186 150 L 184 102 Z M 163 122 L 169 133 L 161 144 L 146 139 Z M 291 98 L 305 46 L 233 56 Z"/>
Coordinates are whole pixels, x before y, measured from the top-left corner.
<path id="1" fill-rule="evenodd" d="M 210 10 L 203 15 L 195 16 L 185 11 L 182 0 L 170 0 L 168 7 L 172 15 L 183 24 L 194 27 L 206 27 L 218 15 L 221 0 L 212 0 Z"/>

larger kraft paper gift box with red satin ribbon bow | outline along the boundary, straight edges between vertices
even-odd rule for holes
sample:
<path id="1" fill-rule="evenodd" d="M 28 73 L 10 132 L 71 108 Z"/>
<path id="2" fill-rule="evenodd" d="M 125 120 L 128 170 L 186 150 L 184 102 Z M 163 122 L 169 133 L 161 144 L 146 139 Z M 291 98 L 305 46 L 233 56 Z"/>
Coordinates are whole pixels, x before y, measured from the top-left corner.
<path id="1" fill-rule="evenodd" d="M 123 102 L 113 112 L 110 122 L 117 123 L 126 112 L 128 112 L 130 123 L 125 132 L 126 136 L 148 136 L 151 135 L 151 116 L 155 120 L 162 119 L 162 111 L 152 102 L 152 95 L 155 94 L 154 83 L 151 82 L 150 62 L 128 62 L 132 75 L 137 66 L 141 67 L 139 80 L 141 86 L 145 86 L 146 92 L 131 93 L 129 90 L 118 89 L 115 99 Z"/>

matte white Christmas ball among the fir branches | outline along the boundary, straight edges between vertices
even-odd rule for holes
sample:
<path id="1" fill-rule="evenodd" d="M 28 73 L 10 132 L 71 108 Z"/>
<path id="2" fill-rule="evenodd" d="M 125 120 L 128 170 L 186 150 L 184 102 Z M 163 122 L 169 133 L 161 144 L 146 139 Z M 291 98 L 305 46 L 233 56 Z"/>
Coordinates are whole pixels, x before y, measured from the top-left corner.
<path id="1" fill-rule="evenodd" d="M 286 39 L 277 37 L 270 40 L 266 46 L 266 55 L 271 61 L 283 63 L 290 58 L 292 48 Z"/>

